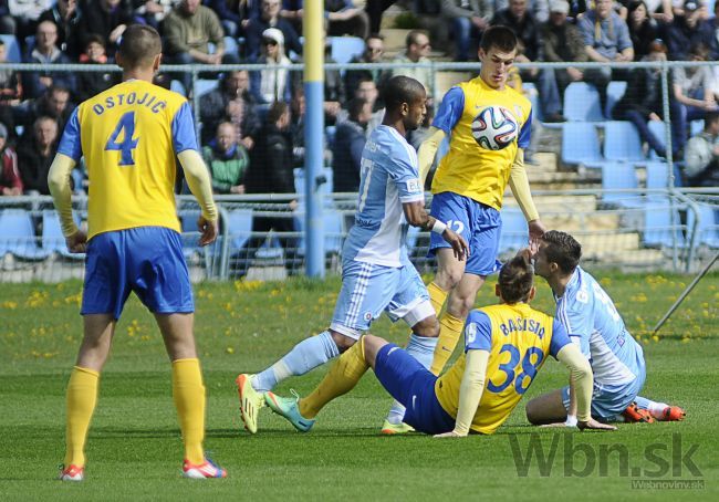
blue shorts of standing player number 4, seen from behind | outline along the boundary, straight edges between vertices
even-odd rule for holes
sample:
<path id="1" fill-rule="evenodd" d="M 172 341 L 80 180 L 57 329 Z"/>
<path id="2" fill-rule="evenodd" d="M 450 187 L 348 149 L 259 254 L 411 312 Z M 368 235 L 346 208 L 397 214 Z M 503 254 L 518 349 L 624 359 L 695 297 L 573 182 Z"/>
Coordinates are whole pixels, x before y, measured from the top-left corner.
<path id="1" fill-rule="evenodd" d="M 132 291 L 156 314 L 195 312 L 178 232 L 138 227 L 90 240 L 80 313 L 119 318 Z"/>

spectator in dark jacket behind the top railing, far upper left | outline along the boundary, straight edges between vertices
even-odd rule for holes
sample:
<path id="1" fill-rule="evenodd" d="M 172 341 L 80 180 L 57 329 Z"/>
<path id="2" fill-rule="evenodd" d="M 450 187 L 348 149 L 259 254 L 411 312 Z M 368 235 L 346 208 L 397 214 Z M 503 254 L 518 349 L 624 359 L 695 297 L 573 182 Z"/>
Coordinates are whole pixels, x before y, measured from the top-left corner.
<path id="1" fill-rule="evenodd" d="M 38 24 L 35 46 L 25 57 L 27 63 L 35 64 L 67 64 L 70 57 L 56 45 L 58 27 L 52 21 Z M 40 97 L 52 85 L 62 85 L 74 91 L 75 76 L 70 72 L 29 72 L 23 75 L 25 97 Z"/>

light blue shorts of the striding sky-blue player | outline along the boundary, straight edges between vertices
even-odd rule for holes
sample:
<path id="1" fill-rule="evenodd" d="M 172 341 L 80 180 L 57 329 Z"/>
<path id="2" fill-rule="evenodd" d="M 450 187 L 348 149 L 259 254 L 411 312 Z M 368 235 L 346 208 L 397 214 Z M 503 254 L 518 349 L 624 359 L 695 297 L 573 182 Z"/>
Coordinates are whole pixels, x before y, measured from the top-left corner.
<path id="1" fill-rule="evenodd" d="M 342 290 L 330 328 L 354 339 L 369 330 L 383 312 L 410 327 L 435 310 L 417 269 L 407 261 L 399 268 L 347 260 L 342 266 Z"/>

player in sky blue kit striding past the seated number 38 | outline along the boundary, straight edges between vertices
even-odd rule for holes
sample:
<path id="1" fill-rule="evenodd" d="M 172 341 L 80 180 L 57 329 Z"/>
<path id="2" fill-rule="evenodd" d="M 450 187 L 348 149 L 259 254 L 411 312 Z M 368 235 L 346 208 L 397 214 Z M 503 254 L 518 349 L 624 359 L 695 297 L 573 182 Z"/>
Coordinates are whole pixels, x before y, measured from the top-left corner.
<path id="1" fill-rule="evenodd" d="M 460 260 L 468 248 L 463 238 L 425 211 L 417 155 L 405 139 L 407 130 L 416 129 L 425 116 L 424 86 L 414 79 L 396 76 L 387 83 L 384 98 L 385 118 L 362 155 L 357 213 L 342 252 L 342 291 L 330 328 L 300 342 L 265 370 L 237 378 L 240 412 L 252 433 L 265 393 L 273 409 L 285 406 L 295 414 L 295 427 L 309 430 L 322 406 L 347 390 L 342 379 L 323 380 L 301 402 L 269 391 L 283 379 L 304 375 L 344 353 L 383 312 L 411 326 L 407 352 L 425 366 L 431 363 L 439 325 L 427 289 L 407 258 L 406 222 L 441 234 Z M 342 356 L 330 375 L 353 374 L 352 365 L 353 359 Z M 400 412 L 404 415 L 404 409 Z"/>

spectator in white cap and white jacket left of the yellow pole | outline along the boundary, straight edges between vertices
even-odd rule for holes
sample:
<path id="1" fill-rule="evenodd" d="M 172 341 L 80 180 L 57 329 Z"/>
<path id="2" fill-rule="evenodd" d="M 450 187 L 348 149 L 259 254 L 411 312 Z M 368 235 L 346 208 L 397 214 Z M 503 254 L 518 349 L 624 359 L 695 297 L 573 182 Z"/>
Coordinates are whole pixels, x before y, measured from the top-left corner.
<path id="1" fill-rule="evenodd" d="M 262 33 L 262 55 L 259 64 L 267 67 L 250 75 L 250 91 L 258 103 L 289 102 L 292 98 L 292 75 L 286 69 L 292 64 L 284 54 L 284 35 L 277 28 Z"/>

